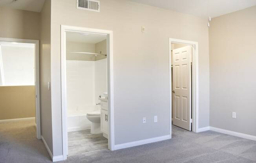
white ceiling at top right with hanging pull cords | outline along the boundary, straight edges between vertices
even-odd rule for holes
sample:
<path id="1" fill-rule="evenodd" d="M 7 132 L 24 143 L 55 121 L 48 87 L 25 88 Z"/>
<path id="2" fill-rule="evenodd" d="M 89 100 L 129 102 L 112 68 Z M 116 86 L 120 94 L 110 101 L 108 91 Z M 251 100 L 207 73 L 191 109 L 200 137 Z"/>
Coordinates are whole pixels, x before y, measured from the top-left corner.
<path id="1" fill-rule="evenodd" d="M 207 0 L 130 0 L 207 18 Z M 256 5 L 256 0 L 209 0 L 212 18 Z"/>

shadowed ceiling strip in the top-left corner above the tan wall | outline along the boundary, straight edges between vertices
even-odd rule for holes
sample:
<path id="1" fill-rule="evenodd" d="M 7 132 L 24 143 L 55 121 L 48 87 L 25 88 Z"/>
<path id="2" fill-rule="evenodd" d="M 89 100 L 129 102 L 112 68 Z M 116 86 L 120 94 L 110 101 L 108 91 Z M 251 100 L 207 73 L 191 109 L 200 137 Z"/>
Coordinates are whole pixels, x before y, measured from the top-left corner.
<path id="1" fill-rule="evenodd" d="M 44 0 L 0 0 L 0 7 L 41 12 Z"/>

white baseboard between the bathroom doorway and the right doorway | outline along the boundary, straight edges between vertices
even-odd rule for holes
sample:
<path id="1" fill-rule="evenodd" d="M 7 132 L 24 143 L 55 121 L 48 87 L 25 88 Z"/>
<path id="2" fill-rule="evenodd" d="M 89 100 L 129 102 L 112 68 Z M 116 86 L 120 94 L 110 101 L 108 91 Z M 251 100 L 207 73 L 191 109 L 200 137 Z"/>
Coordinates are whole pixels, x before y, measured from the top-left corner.
<path id="1" fill-rule="evenodd" d="M 123 143 L 123 144 L 115 145 L 114 150 L 124 149 L 124 148 L 129 148 L 129 147 L 135 147 L 135 146 L 138 146 L 138 145 L 154 143 L 154 142 L 157 142 L 157 141 L 162 141 L 162 140 L 167 140 L 167 139 L 170 139 L 170 135 L 159 136 L 159 137 L 156 137 L 156 138 L 144 139 L 144 140 L 139 140 L 139 141 L 132 141 L 132 142 L 129 142 L 129 143 Z"/>

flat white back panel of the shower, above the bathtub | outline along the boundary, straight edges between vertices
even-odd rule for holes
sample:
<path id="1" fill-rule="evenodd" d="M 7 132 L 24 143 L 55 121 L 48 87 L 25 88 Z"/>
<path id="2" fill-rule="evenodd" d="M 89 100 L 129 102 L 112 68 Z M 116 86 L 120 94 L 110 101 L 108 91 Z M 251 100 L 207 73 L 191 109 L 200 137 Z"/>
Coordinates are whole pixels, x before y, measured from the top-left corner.
<path id="1" fill-rule="evenodd" d="M 95 62 L 67 60 L 66 69 L 68 112 L 93 111 L 91 106 L 95 105 Z"/>

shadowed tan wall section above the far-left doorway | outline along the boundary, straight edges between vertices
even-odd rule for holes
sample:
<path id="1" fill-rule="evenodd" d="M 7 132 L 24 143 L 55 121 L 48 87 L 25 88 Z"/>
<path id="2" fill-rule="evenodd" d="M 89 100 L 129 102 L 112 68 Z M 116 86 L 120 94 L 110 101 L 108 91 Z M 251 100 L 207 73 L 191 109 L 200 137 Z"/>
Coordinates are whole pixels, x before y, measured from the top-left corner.
<path id="1" fill-rule="evenodd" d="M 39 40 L 40 13 L 0 7 L 0 37 Z"/>

